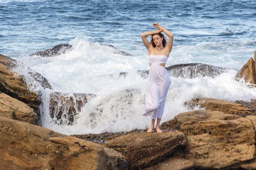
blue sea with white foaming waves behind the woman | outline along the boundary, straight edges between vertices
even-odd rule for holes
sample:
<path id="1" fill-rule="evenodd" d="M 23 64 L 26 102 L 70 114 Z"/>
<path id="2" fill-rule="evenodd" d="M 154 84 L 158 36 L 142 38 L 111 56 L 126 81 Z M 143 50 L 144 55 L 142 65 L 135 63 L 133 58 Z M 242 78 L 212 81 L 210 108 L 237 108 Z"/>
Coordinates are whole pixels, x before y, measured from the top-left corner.
<path id="1" fill-rule="evenodd" d="M 42 126 L 64 134 L 143 129 L 151 120 L 142 116 L 147 80 L 136 71 L 148 69 L 140 34 L 155 30 L 153 22 L 174 34 L 166 66 L 204 63 L 230 69 L 215 78 L 170 75 L 163 122 L 188 111 L 184 103 L 192 98 L 249 101 L 256 97 L 255 89 L 234 81 L 256 50 L 253 0 L 0 0 L 0 54 L 24 63 L 17 69 L 32 90 L 40 91 Z M 30 56 L 62 43 L 72 44 L 72 50 L 54 57 Z M 43 75 L 53 90 L 29 82 L 27 69 Z M 120 72 L 129 74 L 119 77 Z M 49 116 L 53 92 L 96 97 L 82 108 L 74 125 L 57 125 Z"/>

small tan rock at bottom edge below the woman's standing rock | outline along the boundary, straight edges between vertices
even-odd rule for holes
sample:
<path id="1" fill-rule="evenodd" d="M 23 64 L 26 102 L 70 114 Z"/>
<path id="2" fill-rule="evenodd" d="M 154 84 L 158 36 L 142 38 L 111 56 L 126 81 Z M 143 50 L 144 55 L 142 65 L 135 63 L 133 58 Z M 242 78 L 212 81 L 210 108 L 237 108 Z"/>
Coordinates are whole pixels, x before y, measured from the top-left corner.
<path id="1" fill-rule="evenodd" d="M 171 157 L 160 163 L 157 163 L 156 165 L 144 168 L 143 170 L 190 170 L 194 169 L 194 165 L 195 164 L 193 161 L 180 157 Z"/>

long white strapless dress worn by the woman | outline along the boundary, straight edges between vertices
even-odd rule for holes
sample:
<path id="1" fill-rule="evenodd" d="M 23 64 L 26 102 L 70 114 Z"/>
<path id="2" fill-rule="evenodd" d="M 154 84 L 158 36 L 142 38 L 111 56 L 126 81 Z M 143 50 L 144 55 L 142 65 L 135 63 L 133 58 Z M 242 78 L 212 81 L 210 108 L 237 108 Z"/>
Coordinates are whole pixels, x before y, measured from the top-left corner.
<path id="1" fill-rule="evenodd" d="M 170 86 L 168 71 L 160 63 L 166 63 L 165 55 L 150 55 L 150 72 L 145 94 L 144 116 L 151 115 L 152 119 L 162 118 L 166 95 Z"/>

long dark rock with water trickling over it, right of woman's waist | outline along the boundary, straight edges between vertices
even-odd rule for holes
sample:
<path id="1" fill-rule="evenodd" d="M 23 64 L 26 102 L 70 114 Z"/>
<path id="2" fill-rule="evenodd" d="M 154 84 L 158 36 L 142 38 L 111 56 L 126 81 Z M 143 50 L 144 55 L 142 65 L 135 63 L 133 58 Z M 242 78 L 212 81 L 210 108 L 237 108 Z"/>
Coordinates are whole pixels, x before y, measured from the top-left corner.
<path id="1" fill-rule="evenodd" d="M 227 68 L 201 63 L 177 64 L 166 67 L 173 77 L 196 78 L 196 77 L 216 77 L 227 72 Z"/>

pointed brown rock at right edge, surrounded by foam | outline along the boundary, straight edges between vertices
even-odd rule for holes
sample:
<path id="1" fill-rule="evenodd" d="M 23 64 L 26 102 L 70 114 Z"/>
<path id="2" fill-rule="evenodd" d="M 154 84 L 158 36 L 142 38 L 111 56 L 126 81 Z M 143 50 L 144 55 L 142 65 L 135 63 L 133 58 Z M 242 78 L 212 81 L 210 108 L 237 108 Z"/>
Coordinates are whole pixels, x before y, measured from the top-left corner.
<path id="1" fill-rule="evenodd" d="M 242 67 L 235 77 L 239 81 L 241 78 L 245 79 L 246 83 L 256 84 L 255 79 L 255 62 L 250 58 L 247 63 Z"/>

